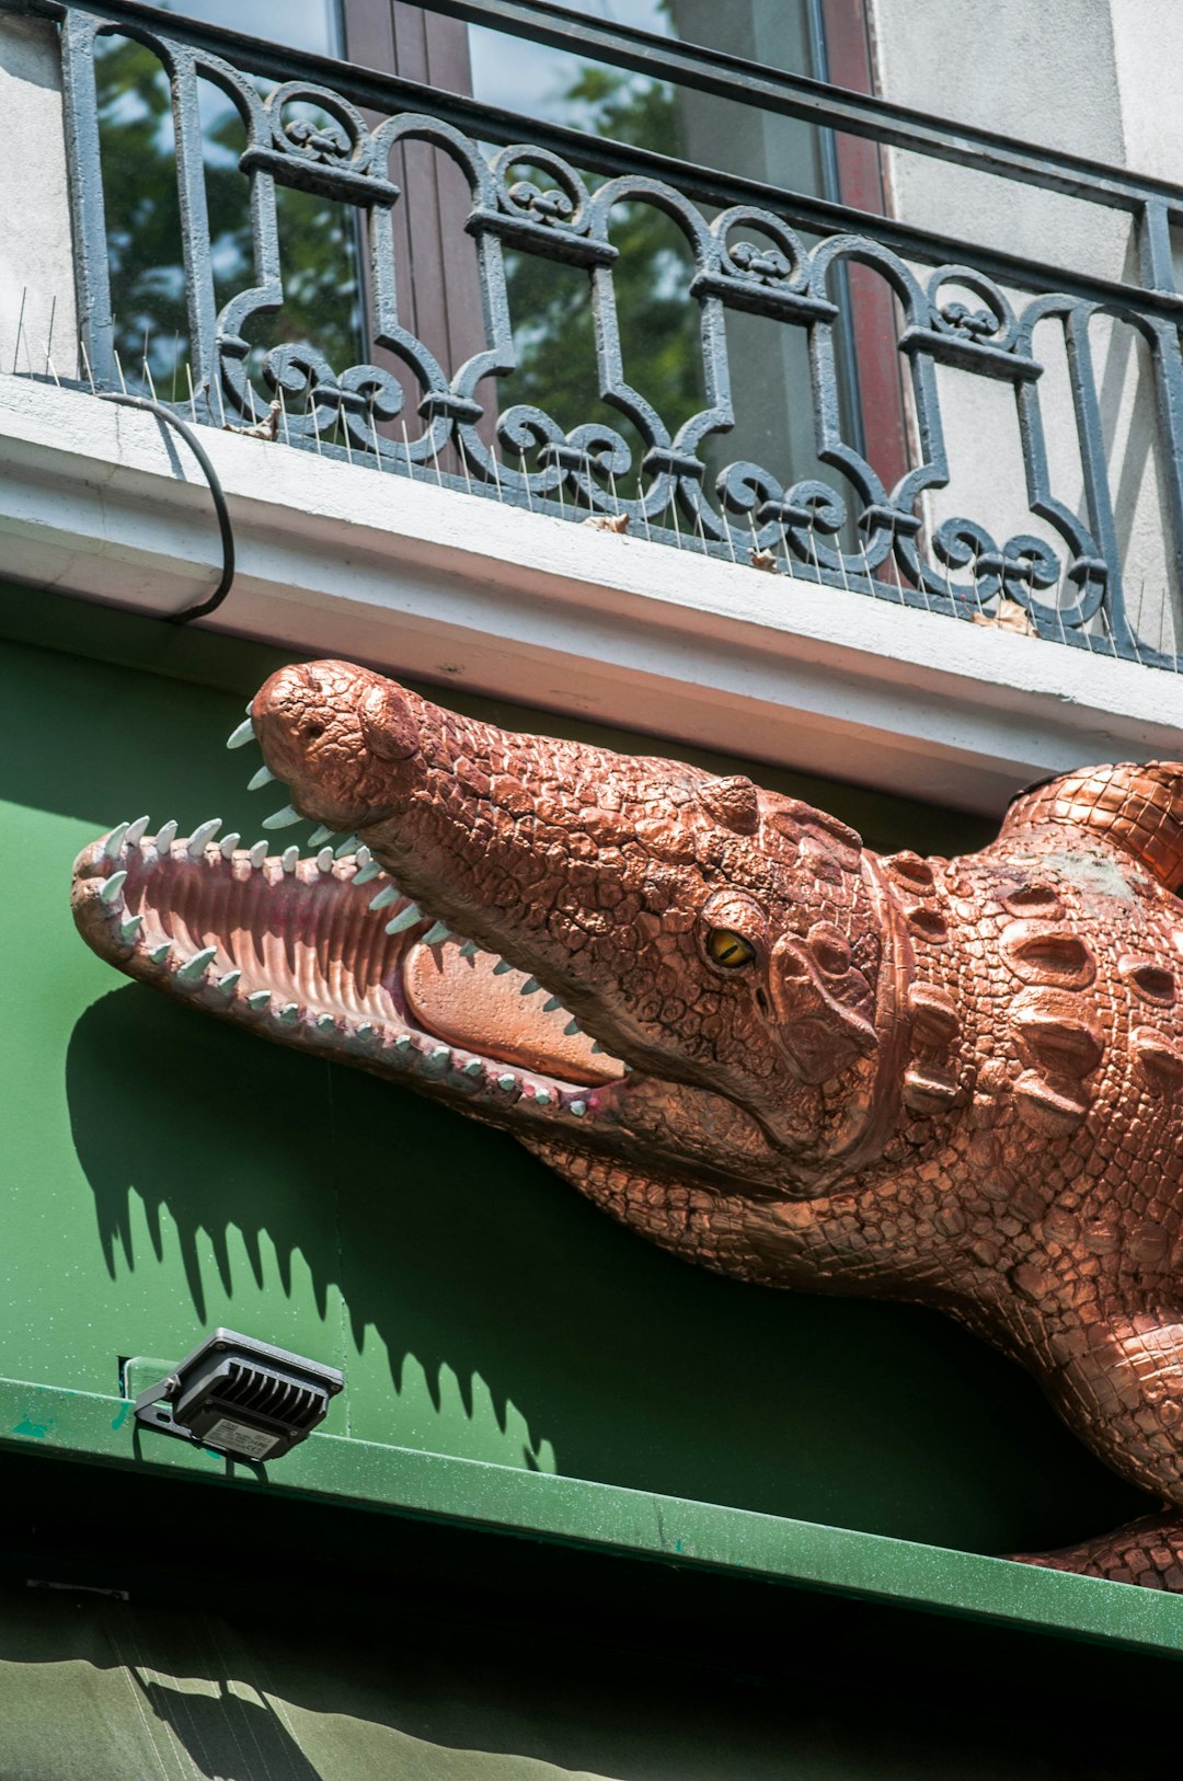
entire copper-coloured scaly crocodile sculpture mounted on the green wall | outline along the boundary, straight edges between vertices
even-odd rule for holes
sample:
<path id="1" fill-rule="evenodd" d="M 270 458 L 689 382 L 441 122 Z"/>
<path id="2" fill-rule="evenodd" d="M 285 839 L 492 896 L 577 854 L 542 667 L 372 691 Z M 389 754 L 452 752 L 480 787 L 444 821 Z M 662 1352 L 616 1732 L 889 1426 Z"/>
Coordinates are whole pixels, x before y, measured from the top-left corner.
<path id="1" fill-rule="evenodd" d="M 1165 1503 L 1028 1562 L 1183 1589 L 1183 766 L 923 860 L 346 663 L 273 675 L 251 737 L 264 826 L 319 851 L 119 825 L 75 866 L 94 951 L 506 1127 L 691 1261 L 941 1307 Z"/>

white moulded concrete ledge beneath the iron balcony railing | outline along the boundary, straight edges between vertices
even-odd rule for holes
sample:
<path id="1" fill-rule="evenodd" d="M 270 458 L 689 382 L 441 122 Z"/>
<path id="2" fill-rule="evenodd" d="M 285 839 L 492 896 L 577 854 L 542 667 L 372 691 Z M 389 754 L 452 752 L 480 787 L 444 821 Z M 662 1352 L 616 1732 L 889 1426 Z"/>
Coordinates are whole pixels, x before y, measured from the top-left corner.
<path id="1" fill-rule="evenodd" d="M 5 575 L 160 616 L 221 554 L 146 413 L 0 376 Z M 966 810 L 1183 750 L 1179 677 L 203 429 L 217 629 Z"/>

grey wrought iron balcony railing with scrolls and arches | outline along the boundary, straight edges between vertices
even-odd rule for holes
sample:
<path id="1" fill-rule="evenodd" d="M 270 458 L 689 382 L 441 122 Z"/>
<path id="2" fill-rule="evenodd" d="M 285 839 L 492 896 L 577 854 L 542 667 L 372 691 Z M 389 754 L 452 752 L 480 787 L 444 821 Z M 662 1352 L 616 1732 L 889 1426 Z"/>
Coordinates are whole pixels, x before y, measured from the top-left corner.
<path id="1" fill-rule="evenodd" d="M 632 533 L 736 561 L 754 554 L 757 561 L 782 559 L 805 579 L 962 618 L 1012 600 L 1044 638 L 1178 668 L 1174 647 L 1138 636 L 1122 588 L 1089 326 L 1097 315 L 1115 317 L 1149 351 L 1163 509 L 1172 529 L 1171 579 L 1183 559 L 1183 296 L 1174 289 L 1171 255 L 1183 191 L 991 132 L 946 126 L 882 100 L 611 27 L 540 0 L 428 0 L 429 11 L 714 98 L 1126 212 L 1135 224 L 1140 276 L 1126 283 L 558 125 L 531 125 L 531 141 L 522 144 L 520 118 L 472 98 L 264 45 L 134 0 L 0 4 L 61 23 L 77 301 L 86 376 L 98 388 L 116 386 L 119 376 L 94 82 L 96 39 L 116 32 L 159 57 L 171 84 L 192 376 L 182 410 L 192 406 L 194 417 L 216 426 L 251 426 L 274 399 L 280 438 L 290 445 L 495 493 L 536 511 L 627 515 Z M 246 132 L 239 166 L 251 175 L 253 274 L 221 306 L 207 217 L 200 82 L 219 87 L 237 109 Z M 470 189 L 463 228 L 476 246 L 486 333 L 483 349 L 454 369 L 440 363 L 401 319 L 404 292 L 396 289 L 394 253 L 399 187 L 390 157 L 408 142 L 447 155 Z M 520 176 L 522 169 L 531 176 Z M 283 189 L 315 192 L 365 217 L 369 346 L 358 363 L 333 365 L 301 340 L 280 342 L 262 358 L 248 344 L 248 324 L 278 312 L 285 297 L 276 208 Z M 613 244 L 613 217 L 622 205 L 650 205 L 673 219 L 693 256 L 689 296 L 698 306 L 706 397 L 677 426 L 625 376 Z M 622 417 L 624 431 L 606 420 L 563 427 L 536 404 L 486 411 L 485 392 L 517 363 L 508 251 L 586 272 L 600 399 Z M 898 301 L 894 347 L 910 388 L 916 461 L 894 486 L 880 481 L 855 429 L 843 420 L 836 333 L 843 269 L 852 264 L 871 267 Z M 707 445 L 734 420 L 725 326 L 730 312 L 805 333 L 816 458 L 837 472 L 834 481 L 789 481 L 775 465 L 752 461 L 707 476 Z M 1044 367 L 1033 351 L 1035 328 L 1048 321 L 1062 329 L 1067 353 L 1083 486 L 1076 504 L 1055 493 L 1049 470 Z M 973 515 L 928 522 L 925 497 L 950 479 L 939 367 L 994 386 L 1001 381 L 1014 392 L 1028 506 L 1049 536 L 991 536 Z M 413 404 L 404 399 L 408 376 L 419 388 Z"/>

